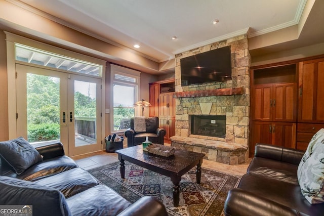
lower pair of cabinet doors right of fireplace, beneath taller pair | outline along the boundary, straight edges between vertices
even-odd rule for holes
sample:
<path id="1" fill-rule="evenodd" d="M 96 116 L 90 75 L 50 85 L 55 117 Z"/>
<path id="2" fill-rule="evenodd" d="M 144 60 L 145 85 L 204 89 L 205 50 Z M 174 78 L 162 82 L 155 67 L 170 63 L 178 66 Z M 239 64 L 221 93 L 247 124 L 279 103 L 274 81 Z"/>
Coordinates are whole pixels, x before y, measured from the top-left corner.
<path id="1" fill-rule="evenodd" d="M 295 122 L 254 121 L 251 134 L 251 155 L 254 155 L 256 143 L 296 147 Z"/>

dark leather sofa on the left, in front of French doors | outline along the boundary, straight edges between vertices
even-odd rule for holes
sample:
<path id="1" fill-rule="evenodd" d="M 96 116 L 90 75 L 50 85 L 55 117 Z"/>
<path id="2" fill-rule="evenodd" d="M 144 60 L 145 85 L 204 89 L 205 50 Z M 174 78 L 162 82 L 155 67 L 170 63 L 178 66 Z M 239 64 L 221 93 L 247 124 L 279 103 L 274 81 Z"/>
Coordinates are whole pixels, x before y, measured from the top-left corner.
<path id="1" fill-rule="evenodd" d="M 0 205 L 32 205 L 33 215 L 168 215 L 154 197 L 131 204 L 101 185 L 64 155 L 63 145 L 38 145 L 43 161 L 16 175 L 6 161 L 0 164 Z"/>

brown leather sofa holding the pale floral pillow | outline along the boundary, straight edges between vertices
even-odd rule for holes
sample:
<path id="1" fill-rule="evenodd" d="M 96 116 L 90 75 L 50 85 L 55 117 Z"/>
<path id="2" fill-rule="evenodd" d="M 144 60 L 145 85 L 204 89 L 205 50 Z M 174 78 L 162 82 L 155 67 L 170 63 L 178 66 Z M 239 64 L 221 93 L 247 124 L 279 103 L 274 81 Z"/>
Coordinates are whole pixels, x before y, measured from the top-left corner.
<path id="1" fill-rule="evenodd" d="M 303 151 L 257 144 L 238 188 L 228 192 L 225 215 L 324 215 L 324 203 L 310 204 L 302 195 L 297 168 Z"/>

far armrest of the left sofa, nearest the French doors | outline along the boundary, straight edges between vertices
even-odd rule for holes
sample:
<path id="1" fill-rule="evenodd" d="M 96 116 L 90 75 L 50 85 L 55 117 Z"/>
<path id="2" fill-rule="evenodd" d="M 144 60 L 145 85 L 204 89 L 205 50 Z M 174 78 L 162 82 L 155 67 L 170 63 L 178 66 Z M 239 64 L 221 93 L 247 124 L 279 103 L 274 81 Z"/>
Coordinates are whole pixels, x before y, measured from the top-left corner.
<path id="1" fill-rule="evenodd" d="M 34 147 L 39 152 L 39 154 L 43 156 L 44 160 L 65 155 L 63 144 L 61 142 L 39 143 L 35 144 Z"/>

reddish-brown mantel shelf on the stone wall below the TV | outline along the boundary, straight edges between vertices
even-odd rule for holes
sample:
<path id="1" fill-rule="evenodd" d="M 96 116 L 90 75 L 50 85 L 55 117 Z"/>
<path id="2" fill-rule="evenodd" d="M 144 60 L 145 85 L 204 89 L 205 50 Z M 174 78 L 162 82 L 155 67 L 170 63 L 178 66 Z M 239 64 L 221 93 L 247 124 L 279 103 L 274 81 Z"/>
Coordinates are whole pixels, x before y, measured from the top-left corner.
<path id="1" fill-rule="evenodd" d="M 226 89 L 176 92 L 174 97 L 193 98 L 193 97 L 228 96 L 228 95 L 243 95 L 243 94 L 244 94 L 244 88 L 226 88 Z"/>

